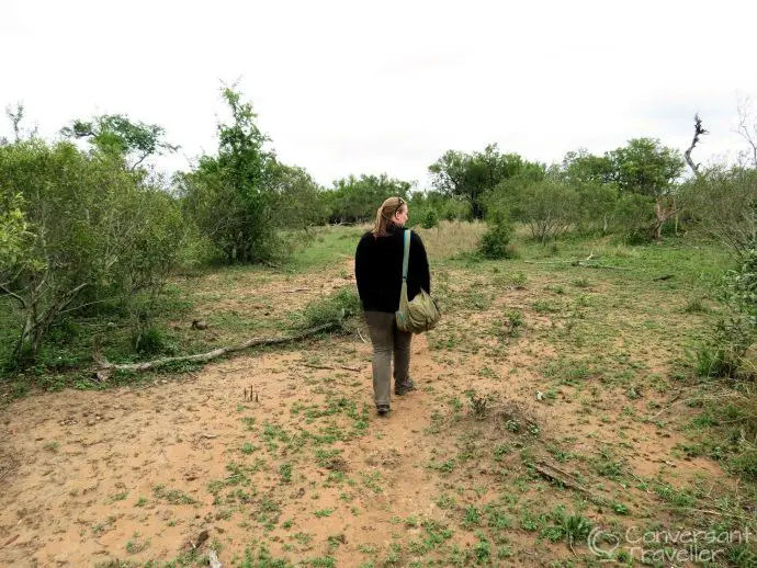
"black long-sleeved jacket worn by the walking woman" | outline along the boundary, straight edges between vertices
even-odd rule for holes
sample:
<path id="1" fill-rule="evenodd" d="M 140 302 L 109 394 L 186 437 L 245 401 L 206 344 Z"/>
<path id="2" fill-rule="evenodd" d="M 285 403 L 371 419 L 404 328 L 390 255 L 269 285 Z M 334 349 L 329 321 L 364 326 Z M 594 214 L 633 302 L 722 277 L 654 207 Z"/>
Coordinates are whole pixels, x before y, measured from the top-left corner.
<path id="1" fill-rule="evenodd" d="M 399 308 L 399 293 L 403 286 L 403 232 L 400 227 L 389 227 L 386 237 L 375 237 L 369 231 L 358 243 L 354 276 L 365 311 L 394 314 Z M 429 262 L 420 237 L 410 231 L 408 300 L 411 300 L 421 287 L 431 293 Z"/>

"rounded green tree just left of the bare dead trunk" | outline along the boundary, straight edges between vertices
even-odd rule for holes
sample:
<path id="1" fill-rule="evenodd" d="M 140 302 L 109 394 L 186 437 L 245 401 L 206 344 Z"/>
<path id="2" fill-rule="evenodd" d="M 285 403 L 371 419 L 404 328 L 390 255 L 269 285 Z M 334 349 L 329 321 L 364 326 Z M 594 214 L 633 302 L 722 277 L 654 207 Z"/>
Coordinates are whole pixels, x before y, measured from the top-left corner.
<path id="1" fill-rule="evenodd" d="M 679 208 L 674 182 L 683 172 L 680 154 L 653 138 L 635 138 L 607 154 L 612 163 L 613 181 L 621 192 L 639 193 L 654 200 L 655 221 L 649 228 L 654 238 L 662 235 L 663 224 Z"/>

